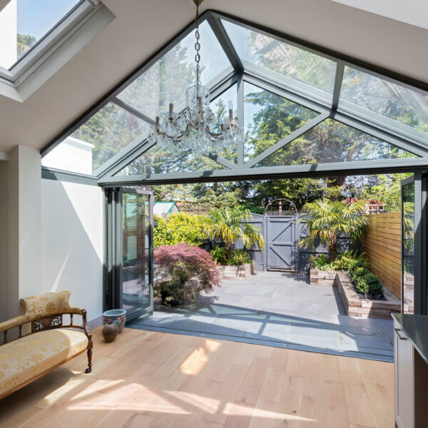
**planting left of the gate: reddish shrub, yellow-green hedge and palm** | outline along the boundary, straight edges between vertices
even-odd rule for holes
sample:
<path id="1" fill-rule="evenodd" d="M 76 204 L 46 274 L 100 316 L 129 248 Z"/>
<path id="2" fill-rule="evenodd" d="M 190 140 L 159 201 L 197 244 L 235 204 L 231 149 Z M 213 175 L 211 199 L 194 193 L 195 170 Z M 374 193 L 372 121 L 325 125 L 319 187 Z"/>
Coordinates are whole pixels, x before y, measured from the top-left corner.
<path id="1" fill-rule="evenodd" d="M 164 305 L 181 305 L 221 280 L 245 279 L 252 272 L 247 248 L 264 246 L 260 230 L 247 222 L 247 208 L 213 208 L 207 215 L 156 215 L 153 228 L 155 297 Z M 241 242 L 244 248 L 235 248 Z"/>

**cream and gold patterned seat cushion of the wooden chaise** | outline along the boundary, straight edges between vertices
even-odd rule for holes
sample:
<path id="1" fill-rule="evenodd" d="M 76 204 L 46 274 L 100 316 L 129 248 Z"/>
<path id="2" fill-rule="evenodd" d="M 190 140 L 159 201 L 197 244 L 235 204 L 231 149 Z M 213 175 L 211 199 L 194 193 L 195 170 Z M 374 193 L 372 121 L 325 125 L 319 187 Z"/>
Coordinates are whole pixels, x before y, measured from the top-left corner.
<path id="1" fill-rule="evenodd" d="M 0 397 L 88 346 L 80 330 L 44 330 L 0 346 Z"/>

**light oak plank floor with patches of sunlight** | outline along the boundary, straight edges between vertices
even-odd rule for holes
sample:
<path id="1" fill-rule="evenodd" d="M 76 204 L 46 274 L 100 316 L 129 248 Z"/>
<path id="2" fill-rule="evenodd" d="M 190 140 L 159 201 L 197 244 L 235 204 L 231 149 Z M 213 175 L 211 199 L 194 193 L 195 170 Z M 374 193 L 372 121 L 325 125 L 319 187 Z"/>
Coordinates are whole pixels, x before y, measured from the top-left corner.
<path id="1" fill-rule="evenodd" d="M 394 366 L 126 329 L 0 401 L 0 427 L 394 427 Z"/>

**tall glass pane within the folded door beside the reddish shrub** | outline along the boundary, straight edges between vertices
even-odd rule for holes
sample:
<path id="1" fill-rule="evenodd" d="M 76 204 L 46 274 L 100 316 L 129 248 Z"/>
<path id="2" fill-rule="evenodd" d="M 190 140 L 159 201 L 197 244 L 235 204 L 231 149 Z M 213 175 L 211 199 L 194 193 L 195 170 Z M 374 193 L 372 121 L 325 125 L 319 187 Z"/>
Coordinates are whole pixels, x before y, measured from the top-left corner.
<path id="1" fill-rule="evenodd" d="M 122 297 L 127 316 L 151 306 L 148 195 L 123 193 Z"/>

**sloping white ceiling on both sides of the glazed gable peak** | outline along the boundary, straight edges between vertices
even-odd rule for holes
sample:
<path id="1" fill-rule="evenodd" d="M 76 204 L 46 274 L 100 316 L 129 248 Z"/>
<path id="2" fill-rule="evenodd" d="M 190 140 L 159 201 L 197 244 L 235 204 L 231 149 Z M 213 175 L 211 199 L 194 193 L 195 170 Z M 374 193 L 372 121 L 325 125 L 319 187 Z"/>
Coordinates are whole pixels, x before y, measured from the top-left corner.
<path id="1" fill-rule="evenodd" d="M 192 0 L 104 0 L 116 19 L 24 103 L 0 96 L 0 152 L 42 148 L 192 19 Z M 421 81 L 428 30 L 330 0 L 205 0 L 224 11 Z"/>

